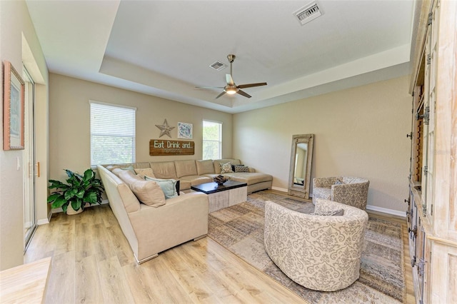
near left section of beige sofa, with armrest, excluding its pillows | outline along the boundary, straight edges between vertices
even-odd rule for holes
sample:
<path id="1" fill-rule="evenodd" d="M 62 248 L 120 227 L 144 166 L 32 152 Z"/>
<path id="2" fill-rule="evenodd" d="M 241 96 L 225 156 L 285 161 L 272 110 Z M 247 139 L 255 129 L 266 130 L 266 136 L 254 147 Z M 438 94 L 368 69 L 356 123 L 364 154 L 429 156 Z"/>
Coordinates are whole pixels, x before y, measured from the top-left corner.
<path id="1" fill-rule="evenodd" d="M 208 233 L 208 196 L 204 193 L 182 193 L 165 199 L 163 192 L 157 201 L 161 206 L 140 203 L 131 191 L 131 184 L 146 183 L 125 181 L 104 166 L 97 166 L 104 184 L 109 206 L 116 216 L 138 263 L 155 258 L 161 251 L 197 240 Z M 127 173 L 127 172 L 126 172 Z M 149 183 L 151 184 L 151 183 Z"/>

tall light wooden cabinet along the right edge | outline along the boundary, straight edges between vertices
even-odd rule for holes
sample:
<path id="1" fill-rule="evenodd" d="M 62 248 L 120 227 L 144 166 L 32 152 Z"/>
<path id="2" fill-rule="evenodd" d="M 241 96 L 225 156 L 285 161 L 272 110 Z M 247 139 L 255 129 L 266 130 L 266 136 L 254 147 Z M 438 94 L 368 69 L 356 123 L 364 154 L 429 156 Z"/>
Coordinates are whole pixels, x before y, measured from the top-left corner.
<path id="1" fill-rule="evenodd" d="M 417 303 L 457 303 L 457 1 L 422 1 L 413 57 L 408 232 Z"/>

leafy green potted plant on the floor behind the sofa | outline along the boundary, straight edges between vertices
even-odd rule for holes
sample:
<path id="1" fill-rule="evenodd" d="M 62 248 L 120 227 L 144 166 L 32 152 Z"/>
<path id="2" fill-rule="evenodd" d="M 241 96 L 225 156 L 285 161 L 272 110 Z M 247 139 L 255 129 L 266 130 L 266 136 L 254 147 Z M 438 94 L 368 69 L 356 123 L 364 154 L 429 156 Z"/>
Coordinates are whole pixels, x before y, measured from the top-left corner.
<path id="1" fill-rule="evenodd" d="M 84 211 L 86 203 L 101 204 L 101 193 L 104 191 L 103 184 L 99 178 L 95 178 L 95 172 L 87 169 L 84 176 L 65 169 L 66 183 L 50 179 L 49 189 L 56 189 L 48 197 L 51 208 L 62 208 L 66 214 L 76 214 Z M 69 208 L 69 206 L 71 206 Z"/>

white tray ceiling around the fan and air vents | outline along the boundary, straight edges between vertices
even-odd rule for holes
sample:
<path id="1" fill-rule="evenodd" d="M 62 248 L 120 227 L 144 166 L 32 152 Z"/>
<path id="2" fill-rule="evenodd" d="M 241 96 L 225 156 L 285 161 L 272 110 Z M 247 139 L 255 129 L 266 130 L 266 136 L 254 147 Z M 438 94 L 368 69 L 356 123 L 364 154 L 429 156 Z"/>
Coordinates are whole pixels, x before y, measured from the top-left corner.
<path id="1" fill-rule="evenodd" d="M 228 113 L 410 74 L 413 0 L 27 0 L 49 71 Z M 252 95 L 215 97 L 235 54 L 236 84 Z"/>

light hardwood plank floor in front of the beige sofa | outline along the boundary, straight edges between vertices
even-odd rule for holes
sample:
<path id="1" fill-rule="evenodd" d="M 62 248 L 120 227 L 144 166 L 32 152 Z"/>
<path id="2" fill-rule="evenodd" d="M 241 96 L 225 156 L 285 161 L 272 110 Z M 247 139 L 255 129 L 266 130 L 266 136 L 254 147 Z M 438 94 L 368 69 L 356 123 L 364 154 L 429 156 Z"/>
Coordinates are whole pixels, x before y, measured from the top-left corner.
<path id="1" fill-rule="evenodd" d="M 24 263 L 49 256 L 46 303 L 304 303 L 211 238 L 136 265 L 108 205 L 39 226 Z"/>

